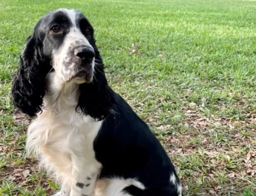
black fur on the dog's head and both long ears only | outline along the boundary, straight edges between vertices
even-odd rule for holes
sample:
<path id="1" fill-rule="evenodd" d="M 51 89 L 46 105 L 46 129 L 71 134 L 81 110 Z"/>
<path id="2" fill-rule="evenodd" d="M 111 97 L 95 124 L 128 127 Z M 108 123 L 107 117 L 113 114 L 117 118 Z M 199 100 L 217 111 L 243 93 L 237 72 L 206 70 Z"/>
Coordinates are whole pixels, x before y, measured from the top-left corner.
<path id="1" fill-rule="evenodd" d="M 46 91 L 45 78 L 52 69 L 51 52 L 60 47 L 68 33 L 67 29 L 62 36 L 50 36 L 46 29 L 49 29 L 51 23 L 54 22 L 70 25 L 70 22 L 63 16 L 62 12 L 53 11 L 41 18 L 35 26 L 24 52 L 20 55 L 20 67 L 12 82 L 12 100 L 16 107 L 30 116 L 35 116 L 37 112 L 42 111 L 43 97 Z M 93 27 L 83 14 L 79 14 L 77 21 L 79 21 L 77 23 L 82 32 L 85 27 L 91 27 L 93 31 Z M 106 81 L 104 64 L 93 34 L 87 36 L 87 39 L 95 49 L 95 75 L 93 82 L 80 84 L 77 108 L 81 108 L 83 114 L 90 115 L 95 120 L 102 120 L 112 112 L 114 98 Z"/>

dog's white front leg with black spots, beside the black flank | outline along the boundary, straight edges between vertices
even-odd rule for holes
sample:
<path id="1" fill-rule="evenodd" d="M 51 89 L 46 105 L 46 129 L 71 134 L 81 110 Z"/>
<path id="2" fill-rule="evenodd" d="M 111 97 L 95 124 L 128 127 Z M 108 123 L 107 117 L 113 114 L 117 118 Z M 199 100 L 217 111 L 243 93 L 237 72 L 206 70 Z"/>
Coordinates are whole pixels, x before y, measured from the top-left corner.
<path id="1" fill-rule="evenodd" d="M 101 165 L 96 160 L 72 157 L 72 188 L 70 196 L 93 196 Z"/>

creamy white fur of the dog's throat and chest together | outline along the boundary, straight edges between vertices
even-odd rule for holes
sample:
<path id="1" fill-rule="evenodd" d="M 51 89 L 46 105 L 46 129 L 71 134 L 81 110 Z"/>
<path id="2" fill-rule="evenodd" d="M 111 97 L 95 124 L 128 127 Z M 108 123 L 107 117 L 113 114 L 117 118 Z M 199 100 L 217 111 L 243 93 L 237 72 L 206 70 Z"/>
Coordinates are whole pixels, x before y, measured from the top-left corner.
<path id="1" fill-rule="evenodd" d="M 87 177 L 96 182 L 101 164 L 95 159 L 93 141 L 102 122 L 76 112 L 78 84 L 61 86 L 56 78 L 55 73 L 49 74 L 45 108 L 28 127 L 27 149 L 39 156 L 41 167 L 63 186 L 87 183 Z M 95 182 L 90 182 L 92 187 Z"/>

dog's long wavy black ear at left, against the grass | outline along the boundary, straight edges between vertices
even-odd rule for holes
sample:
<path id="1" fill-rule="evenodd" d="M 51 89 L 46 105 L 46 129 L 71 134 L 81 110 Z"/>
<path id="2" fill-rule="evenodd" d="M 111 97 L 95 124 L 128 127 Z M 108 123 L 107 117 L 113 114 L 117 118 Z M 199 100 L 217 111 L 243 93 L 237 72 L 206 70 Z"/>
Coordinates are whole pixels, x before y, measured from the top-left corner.
<path id="1" fill-rule="evenodd" d="M 20 67 L 12 82 L 12 100 L 22 112 L 34 116 L 42 110 L 45 95 L 45 76 L 42 44 L 35 33 L 28 38 L 20 55 Z"/>

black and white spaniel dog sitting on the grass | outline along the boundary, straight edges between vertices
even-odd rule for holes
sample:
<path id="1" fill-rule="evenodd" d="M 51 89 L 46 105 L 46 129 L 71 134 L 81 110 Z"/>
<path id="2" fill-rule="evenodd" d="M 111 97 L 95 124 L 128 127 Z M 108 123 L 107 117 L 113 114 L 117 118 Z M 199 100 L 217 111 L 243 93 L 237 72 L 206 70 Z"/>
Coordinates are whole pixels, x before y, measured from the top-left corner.
<path id="1" fill-rule="evenodd" d="M 60 183 L 55 195 L 181 195 L 160 142 L 108 86 L 93 33 L 62 8 L 35 25 L 12 84 L 14 104 L 37 115 L 28 151 Z"/>

